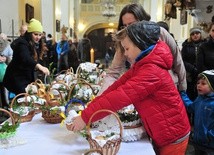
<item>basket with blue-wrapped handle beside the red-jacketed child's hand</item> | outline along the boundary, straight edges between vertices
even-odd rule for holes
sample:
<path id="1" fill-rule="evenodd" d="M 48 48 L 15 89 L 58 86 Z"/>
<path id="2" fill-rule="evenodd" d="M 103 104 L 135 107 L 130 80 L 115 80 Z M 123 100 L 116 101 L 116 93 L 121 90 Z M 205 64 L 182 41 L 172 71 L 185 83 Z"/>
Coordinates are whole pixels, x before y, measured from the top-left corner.
<path id="1" fill-rule="evenodd" d="M 85 105 L 81 100 L 78 99 L 71 99 L 65 105 L 65 124 L 68 130 L 71 130 L 72 125 L 72 118 L 77 116 L 79 111 L 85 109 Z"/>

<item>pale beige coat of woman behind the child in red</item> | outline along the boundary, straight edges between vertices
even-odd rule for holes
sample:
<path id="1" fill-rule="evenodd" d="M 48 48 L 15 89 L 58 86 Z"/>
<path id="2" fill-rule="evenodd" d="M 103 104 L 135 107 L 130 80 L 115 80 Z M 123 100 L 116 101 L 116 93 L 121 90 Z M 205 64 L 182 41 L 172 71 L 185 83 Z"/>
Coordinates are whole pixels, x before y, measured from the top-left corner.
<path id="1" fill-rule="evenodd" d="M 169 70 L 170 75 L 172 76 L 172 79 L 175 85 L 178 87 L 179 91 L 186 90 L 186 70 L 184 67 L 182 56 L 180 54 L 180 50 L 176 45 L 173 37 L 164 28 L 161 27 L 160 30 L 160 40 L 167 43 L 173 55 L 173 66 L 172 69 Z M 120 77 L 122 71 L 125 68 L 125 61 L 126 58 L 124 54 L 121 51 L 116 51 L 114 59 L 111 62 L 111 66 L 108 69 L 108 73 L 103 80 L 102 89 L 99 91 L 99 95 Z"/>

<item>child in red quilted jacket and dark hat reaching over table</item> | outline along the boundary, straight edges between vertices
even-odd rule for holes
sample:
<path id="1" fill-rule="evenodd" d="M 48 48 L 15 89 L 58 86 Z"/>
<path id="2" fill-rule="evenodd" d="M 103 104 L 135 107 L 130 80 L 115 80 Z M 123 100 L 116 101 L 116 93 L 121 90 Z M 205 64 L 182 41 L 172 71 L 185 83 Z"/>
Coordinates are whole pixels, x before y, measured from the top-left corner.
<path id="1" fill-rule="evenodd" d="M 160 27 L 150 21 L 132 24 L 116 34 L 132 66 L 96 97 L 81 116 L 73 119 L 73 131 L 83 129 L 91 115 L 100 109 L 116 112 L 133 104 L 157 154 L 185 154 L 190 125 L 179 92 L 168 73 L 172 54 L 164 42 L 158 41 L 159 36 Z M 93 121 L 103 117 L 105 115 L 96 115 Z"/>

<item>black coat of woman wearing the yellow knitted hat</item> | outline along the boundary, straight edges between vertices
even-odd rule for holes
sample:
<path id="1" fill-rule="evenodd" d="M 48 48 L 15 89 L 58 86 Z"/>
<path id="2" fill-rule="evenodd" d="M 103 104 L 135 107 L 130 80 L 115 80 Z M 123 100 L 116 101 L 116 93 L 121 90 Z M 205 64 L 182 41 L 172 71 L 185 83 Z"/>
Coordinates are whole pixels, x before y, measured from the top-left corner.
<path id="1" fill-rule="evenodd" d="M 3 85 L 15 94 L 24 93 L 28 84 L 34 80 L 34 69 L 37 62 L 33 59 L 30 44 L 22 37 L 14 41 L 13 59 L 9 63 Z"/>

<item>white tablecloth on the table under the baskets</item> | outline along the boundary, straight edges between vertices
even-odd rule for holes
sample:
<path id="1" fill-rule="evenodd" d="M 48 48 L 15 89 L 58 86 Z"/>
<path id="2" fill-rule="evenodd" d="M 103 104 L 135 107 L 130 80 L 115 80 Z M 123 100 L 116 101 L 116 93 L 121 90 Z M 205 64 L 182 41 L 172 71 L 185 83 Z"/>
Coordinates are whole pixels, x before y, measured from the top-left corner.
<path id="1" fill-rule="evenodd" d="M 0 155 L 81 155 L 89 149 L 88 142 L 79 134 L 68 131 L 60 124 L 49 124 L 41 114 L 31 122 L 20 124 L 14 137 L 24 142 L 10 148 L 0 148 Z M 155 155 L 147 138 L 121 143 L 118 155 Z"/>

